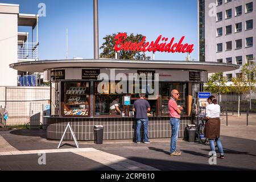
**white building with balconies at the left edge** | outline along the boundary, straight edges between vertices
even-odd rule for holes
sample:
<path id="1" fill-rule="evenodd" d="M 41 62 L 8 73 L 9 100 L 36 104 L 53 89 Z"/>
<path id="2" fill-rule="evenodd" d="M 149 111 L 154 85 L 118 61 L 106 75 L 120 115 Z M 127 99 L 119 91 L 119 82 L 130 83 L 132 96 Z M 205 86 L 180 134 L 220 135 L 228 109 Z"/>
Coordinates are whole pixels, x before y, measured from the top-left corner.
<path id="1" fill-rule="evenodd" d="M 19 26 L 31 27 L 30 42 L 28 32 L 18 32 Z M 0 86 L 38 85 L 37 74 L 17 72 L 9 67 L 20 61 L 38 60 L 38 15 L 20 14 L 19 5 L 0 3 L 0 27 Z"/>

